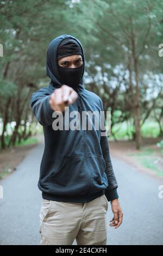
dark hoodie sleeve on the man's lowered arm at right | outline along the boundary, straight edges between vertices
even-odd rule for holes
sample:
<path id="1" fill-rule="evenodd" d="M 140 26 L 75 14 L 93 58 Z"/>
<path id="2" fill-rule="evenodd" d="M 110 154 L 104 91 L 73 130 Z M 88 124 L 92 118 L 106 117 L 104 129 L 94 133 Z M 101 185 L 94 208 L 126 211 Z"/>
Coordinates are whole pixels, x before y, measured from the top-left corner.
<path id="1" fill-rule="evenodd" d="M 100 99 L 100 101 L 101 101 L 101 109 L 102 111 L 104 111 L 102 100 Z M 117 185 L 117 180 L 114 174 L 114 170 L 112 168 L 108 136 L 107 136 L 106 130 L 104 130 L 103 132 L 105 132 L 105 136 L 101 136 L 100 144 L 101 144 L 102 153 L 103 153 L 103 157 L 106 164 L 105 173 L 107 175 L 108 184 L 109 184 L 108 188 L 106 188 L 105 190 L 105 196 L 108 199 L 108 201 L 112 201 L 119 197 L 117 193 L 118 185 Z"/>

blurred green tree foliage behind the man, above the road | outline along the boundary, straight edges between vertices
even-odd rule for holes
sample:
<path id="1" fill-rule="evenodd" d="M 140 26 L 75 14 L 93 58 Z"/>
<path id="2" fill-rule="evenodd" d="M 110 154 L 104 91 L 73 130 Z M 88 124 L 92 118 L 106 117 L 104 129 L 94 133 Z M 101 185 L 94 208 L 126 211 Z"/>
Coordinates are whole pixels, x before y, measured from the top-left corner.
<path id="1" fill-rule="evenodd" d="M 135 134 L 135 59 L 141 133 L 159 136 L 163 130 L 162 58 L 158 56 L 162 15 L 163 2 L 158 0 L 0 1 L 2 123 L 33 122 L 30 95 L 49 83 L 48 44 L 60 34 L 71 34 L 84 47 L 85 87 L 101 96 L 105 111 L 111 111 L 114 137 L 132 139 Z"/>

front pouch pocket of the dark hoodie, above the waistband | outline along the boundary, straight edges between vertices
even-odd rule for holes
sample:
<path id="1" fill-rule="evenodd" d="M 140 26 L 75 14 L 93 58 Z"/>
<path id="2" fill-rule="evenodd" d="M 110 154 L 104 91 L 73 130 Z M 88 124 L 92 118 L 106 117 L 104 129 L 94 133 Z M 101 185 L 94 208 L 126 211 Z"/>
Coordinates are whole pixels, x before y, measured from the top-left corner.
<path id="1" fill-rule="evenodd" d="M 85 157 L 66 156 L 58 170 L 49 176 L 49 183 L 54 183 L 57 193 L 67 191 L 70 195 L 84 194 L 90 187 L 91 176 Z"/>

